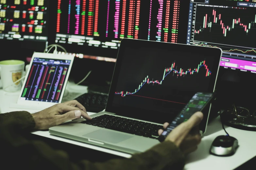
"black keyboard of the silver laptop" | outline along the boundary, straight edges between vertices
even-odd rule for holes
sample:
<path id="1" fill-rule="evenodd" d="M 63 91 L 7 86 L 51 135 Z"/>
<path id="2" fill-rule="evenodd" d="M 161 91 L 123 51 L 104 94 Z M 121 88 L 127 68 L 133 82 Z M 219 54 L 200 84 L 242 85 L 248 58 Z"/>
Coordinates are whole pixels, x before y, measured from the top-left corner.
<path id="1" fill-rule="evenodd" d="M 163 129 L 162 125 L 131 120 L 107 114 L 94 117 L 92 120 L 84 120 L 81 123 L 153 139 L 157 139 L 158 130 Z"/>

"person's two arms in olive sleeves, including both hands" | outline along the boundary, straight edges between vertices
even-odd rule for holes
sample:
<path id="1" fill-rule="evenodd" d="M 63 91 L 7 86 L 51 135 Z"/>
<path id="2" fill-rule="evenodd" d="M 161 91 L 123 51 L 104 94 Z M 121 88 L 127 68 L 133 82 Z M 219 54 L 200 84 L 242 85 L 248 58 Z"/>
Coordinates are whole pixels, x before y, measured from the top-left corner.
<path id="1" fill-rule="evenodd" d="M 105 163 L 91 163 L 77 160 L 73 163 L 64 151 L 51 149 L 40 141 L 28 141 L 25 132 L 47 129 L 67 120 L 83 116 L 91 119 L 85 108 L 77 101 L 54 105 L 31 115 L 28 112 L 0 114 L 0 149 L 3 159 L 1 166 L 6 169 L 26 167 L 26 169 L 60 169 L 60 170 L 160 170 L 165 167 L 182 169 L 184 155 L 194 151 L 200 143 L 198 124 L 203 114 L 197 112 L 188 121 L 177 126 L 159 145 L 130 159 L 116 159 Z M 168 124 L 164 124 L 166 128 Z M 193 132 L 194 129 L 194 133 Z M 159 130 L 161 134 L 161 130 Z"/>

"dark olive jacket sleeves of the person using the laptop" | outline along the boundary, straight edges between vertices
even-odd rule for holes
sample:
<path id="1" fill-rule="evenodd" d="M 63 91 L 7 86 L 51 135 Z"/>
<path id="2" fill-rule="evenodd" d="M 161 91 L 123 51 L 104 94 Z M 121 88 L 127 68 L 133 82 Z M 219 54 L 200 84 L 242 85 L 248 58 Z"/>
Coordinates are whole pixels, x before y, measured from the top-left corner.
<path id="1" fill-rule="evenodd" d="M 114 159 L 103 163 L 87 160 L 71 162 L 64 151 L 50 148 L 41 141 L 29 141 L 26 133 L 33 130 L 35 121 L 28 112 L 0 114 L 1 166 L 20 169 L 60 170 L 179 170 L 184 167 L 184 156 L 172 142 L 162 142 L 130 159 Z M 14 161 L 15 160 L 15 161 Z"/>

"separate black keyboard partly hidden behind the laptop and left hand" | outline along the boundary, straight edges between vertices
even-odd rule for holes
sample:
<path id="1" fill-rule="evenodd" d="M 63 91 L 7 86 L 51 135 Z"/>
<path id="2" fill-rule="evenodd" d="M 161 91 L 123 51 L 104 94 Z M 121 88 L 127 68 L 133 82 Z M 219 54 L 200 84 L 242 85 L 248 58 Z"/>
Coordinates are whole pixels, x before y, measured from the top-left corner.
<path id="1" fill-rule="evenodd" d="M 75 100 L 81 103 L 86 108 L 86 111 L 98 113 L 105 109 L 108 95 L 85 93 Z"/>

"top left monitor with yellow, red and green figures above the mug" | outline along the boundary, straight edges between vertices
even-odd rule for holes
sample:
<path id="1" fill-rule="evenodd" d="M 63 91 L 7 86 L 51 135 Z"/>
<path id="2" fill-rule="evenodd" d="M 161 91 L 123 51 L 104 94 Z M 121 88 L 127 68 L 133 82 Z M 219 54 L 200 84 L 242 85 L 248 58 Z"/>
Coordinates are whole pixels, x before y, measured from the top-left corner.
<path id="1" fill-rule="evenodd" d="M 0 41 L 7 39 L 46 42 L 49 1 L 0 0 Z"/>

